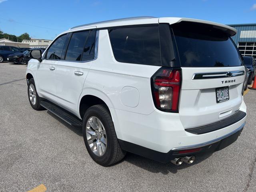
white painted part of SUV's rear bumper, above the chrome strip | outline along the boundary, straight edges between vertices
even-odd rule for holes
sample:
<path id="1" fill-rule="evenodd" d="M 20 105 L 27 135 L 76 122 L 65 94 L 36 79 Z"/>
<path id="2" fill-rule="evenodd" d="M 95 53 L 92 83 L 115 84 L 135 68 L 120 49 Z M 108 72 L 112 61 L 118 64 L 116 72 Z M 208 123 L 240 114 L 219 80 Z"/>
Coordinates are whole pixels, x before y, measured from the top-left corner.
<path id="1" fill-rule="evenodd" d="M 240 109 L 246 111 L 244 102 Z M 173 148 L 193 146 L 220 138 L 242 126 L 242 120 L 220 130 L 206 134 L 192 134 L 186 132 L 180 121 L 179 114 L 171 114 L 155 110 L 150 115 L 136 114 L 124 110 L 110 108 L 111 114 L 118 114 L 115 128 L 118 126 L 117 136 L 121 140 L 136 143 L 162 153 L 167 153 Z M 112 116 L 113 118 L 114 116 Z"/>

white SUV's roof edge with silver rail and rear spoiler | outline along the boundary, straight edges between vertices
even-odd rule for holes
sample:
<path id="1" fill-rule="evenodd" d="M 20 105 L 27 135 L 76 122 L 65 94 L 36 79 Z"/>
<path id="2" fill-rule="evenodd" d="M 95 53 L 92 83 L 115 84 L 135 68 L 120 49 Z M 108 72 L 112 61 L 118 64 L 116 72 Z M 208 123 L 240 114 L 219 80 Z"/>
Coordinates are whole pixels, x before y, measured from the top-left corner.
<path id="1" fill-rule="evenodd" d="M 88 29 L 88 28 L 109 28 L 109 27 L 115 27 L 115 26 L 129 26 L 129 25 L 140 25 L 140 24 L 159 24 L 159 23 L 174 24 L 174 23 L 179 23 L 182 21 L 214 25 L 214 26 L 221 28 L 222 30 L 225 30 L 226 32 L 228 32 L 228 34 L 230 34 L 230 36 L 235 35 L 237 32 L 237 30 L 235 28 L 232 28 L 232 27 L 224 25 L 224 24 L 219 24 L 216 22 L 191 19 L 191 18 L 178 18 L 178 17 L 156 18 L 156 17 L 151 17 L 151 16 L 122 18 L 122 19 L 107 20 L 107 21 L 102 21 L 102 22 L 84 24 L 84 25 L 72 27 L 66 32 L 71 32 L 71 31 L 76 31 L 76 30 L 84 30 L 84 29 Z"/>

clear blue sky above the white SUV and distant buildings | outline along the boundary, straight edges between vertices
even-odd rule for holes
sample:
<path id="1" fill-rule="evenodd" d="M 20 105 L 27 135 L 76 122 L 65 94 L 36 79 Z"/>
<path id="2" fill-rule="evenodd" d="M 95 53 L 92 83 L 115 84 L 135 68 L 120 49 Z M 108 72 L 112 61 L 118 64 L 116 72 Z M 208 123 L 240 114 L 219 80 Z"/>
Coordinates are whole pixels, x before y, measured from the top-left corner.
<path id="1" fill-rule="evenodd" d="M 53 39 L 70 27 L 134 16 L 256 23 L 256 0 L 0 0 L 0 30 Z"/>

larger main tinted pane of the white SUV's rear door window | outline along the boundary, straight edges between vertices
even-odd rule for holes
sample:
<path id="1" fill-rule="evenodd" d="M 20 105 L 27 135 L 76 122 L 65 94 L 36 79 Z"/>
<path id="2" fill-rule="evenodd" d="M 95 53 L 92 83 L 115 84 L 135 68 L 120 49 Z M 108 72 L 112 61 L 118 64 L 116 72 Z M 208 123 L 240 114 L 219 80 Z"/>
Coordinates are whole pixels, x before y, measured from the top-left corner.
<path id="1" fill-rule="evenodd" d="M 65 60 L 80 61 L 84 44 L 90 31 L 75 32 L 68 44 Z"/>

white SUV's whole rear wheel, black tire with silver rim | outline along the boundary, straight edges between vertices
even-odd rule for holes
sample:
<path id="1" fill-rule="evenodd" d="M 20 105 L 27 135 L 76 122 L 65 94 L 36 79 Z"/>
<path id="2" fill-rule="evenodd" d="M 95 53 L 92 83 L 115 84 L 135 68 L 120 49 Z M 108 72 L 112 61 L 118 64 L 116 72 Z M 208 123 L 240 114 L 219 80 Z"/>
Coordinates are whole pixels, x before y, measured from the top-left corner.
<path id="1" fill-rule="evenodd" d="M 83 118 L 84 144 L 91 158 L 102 166 L 122 160 L 126 154 L 118 143 L 110 112 L 104 105 L 94 105 Z"/>

